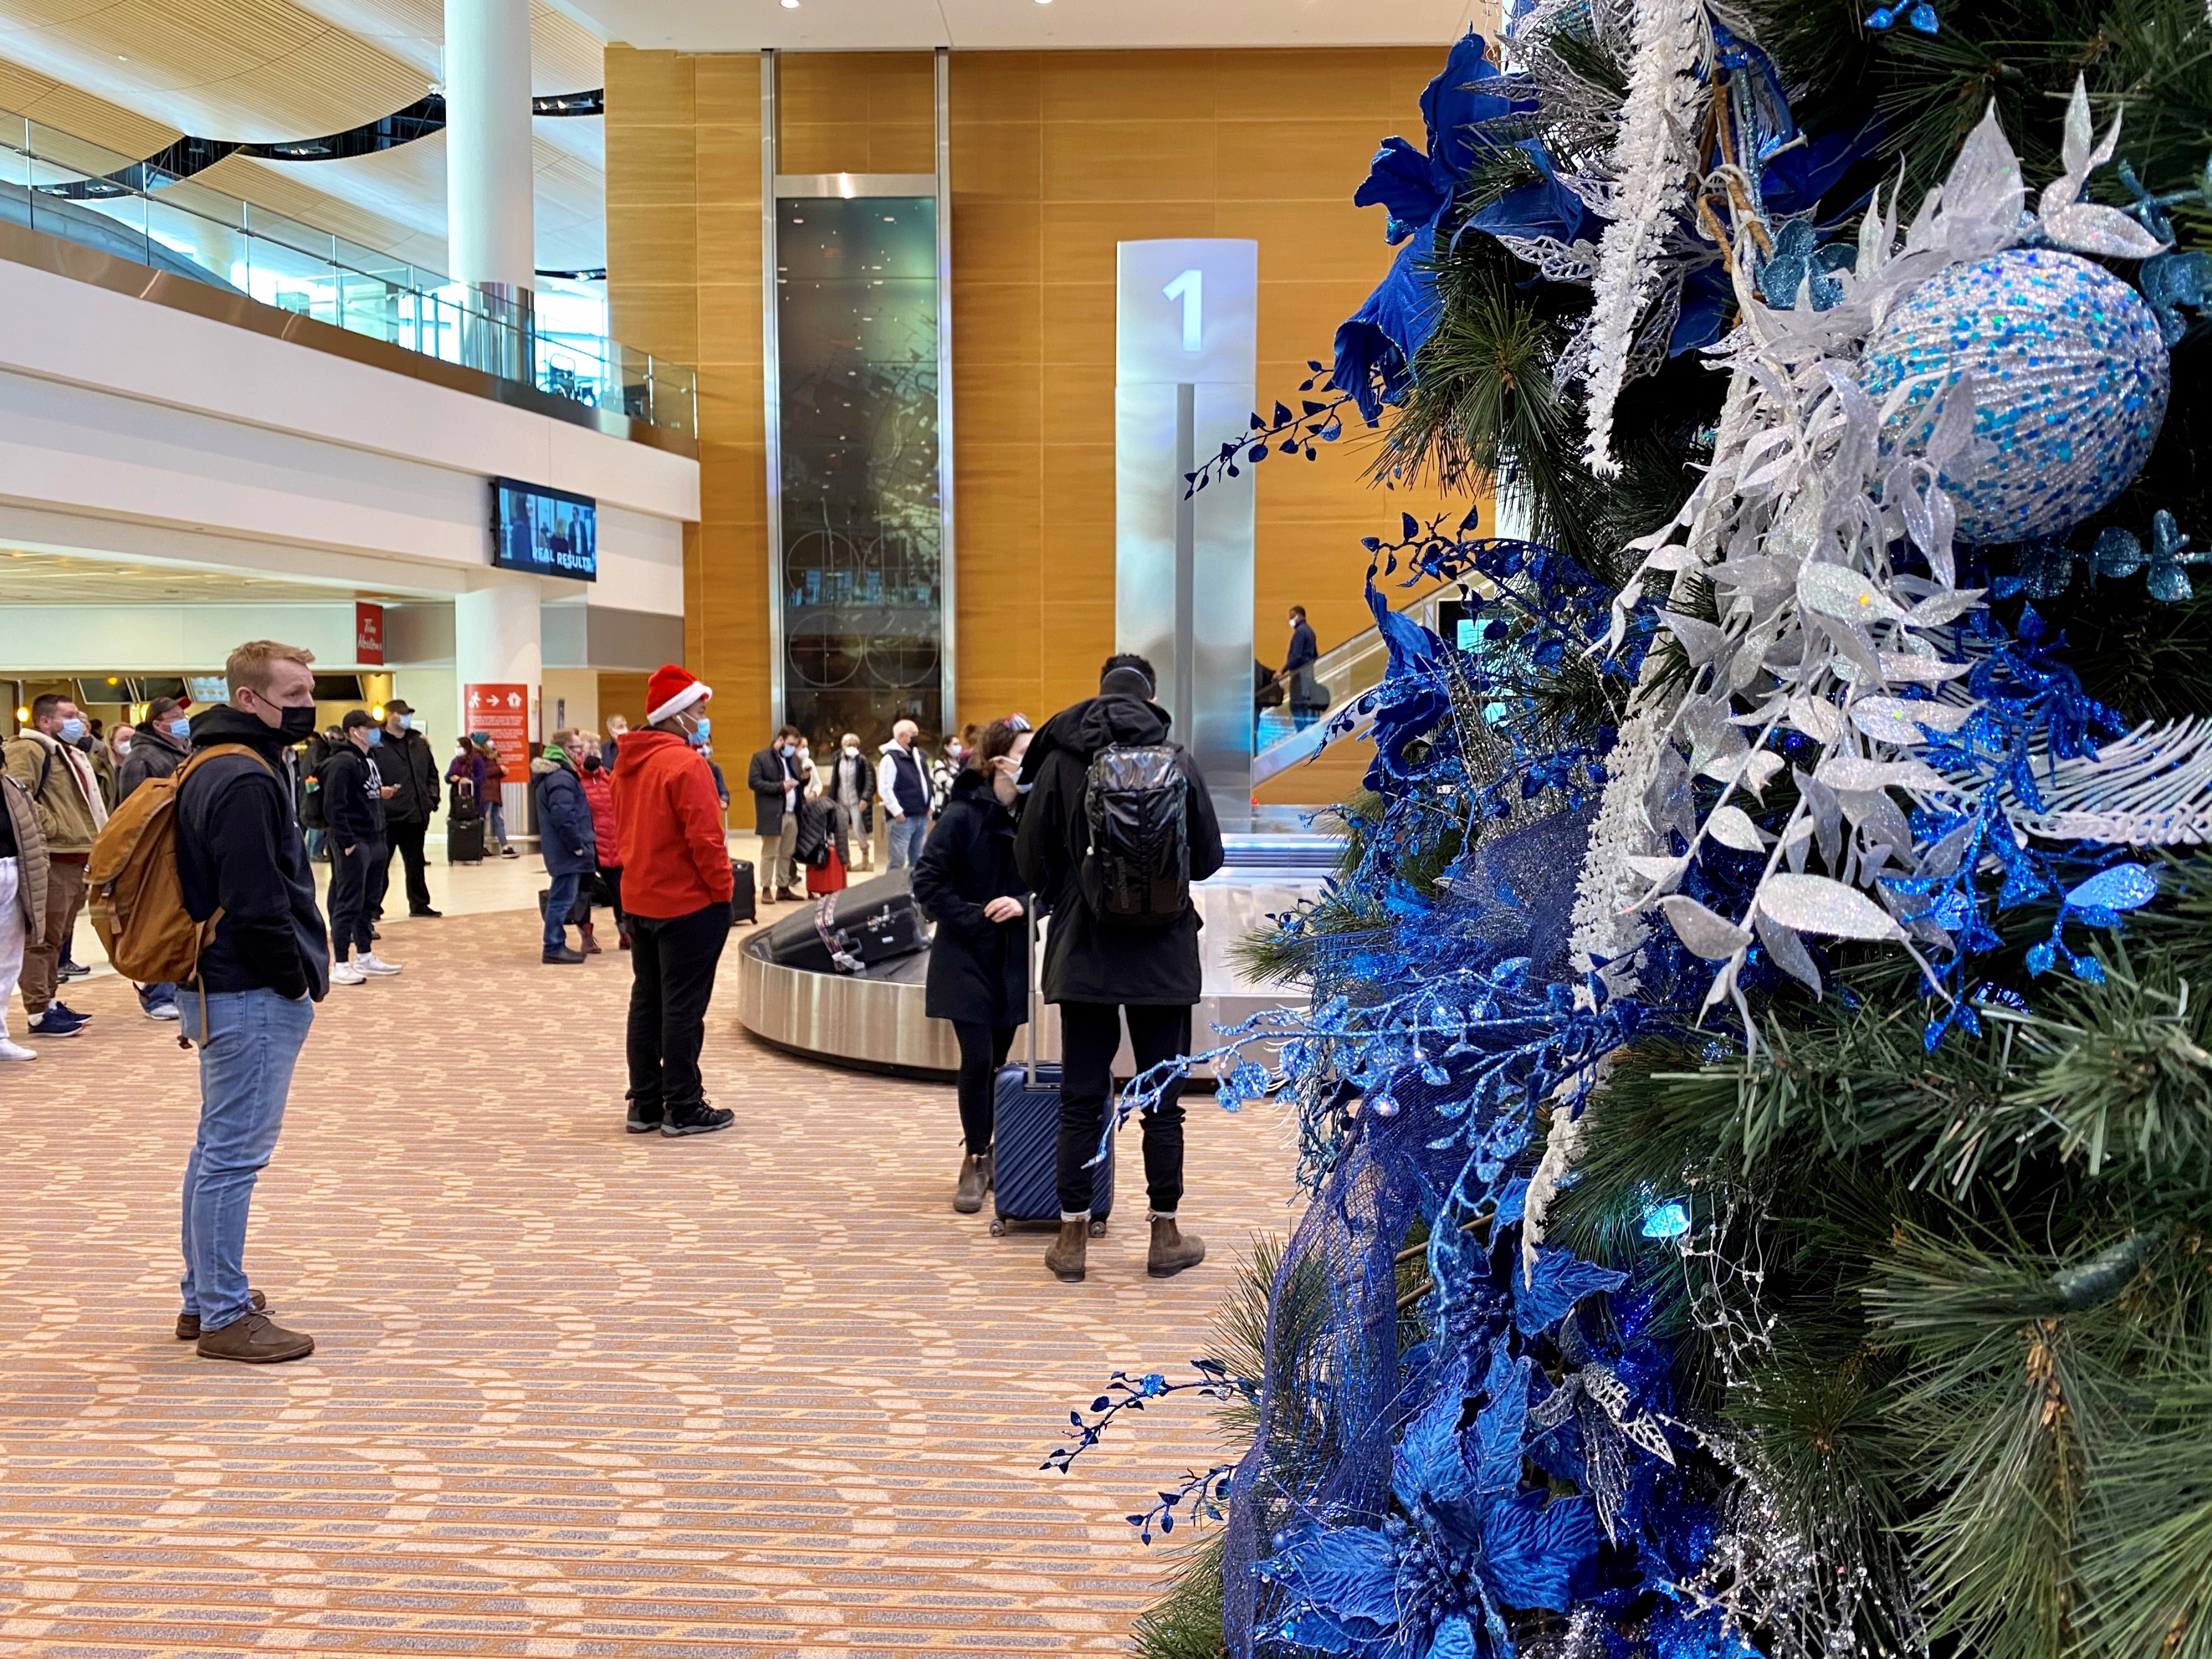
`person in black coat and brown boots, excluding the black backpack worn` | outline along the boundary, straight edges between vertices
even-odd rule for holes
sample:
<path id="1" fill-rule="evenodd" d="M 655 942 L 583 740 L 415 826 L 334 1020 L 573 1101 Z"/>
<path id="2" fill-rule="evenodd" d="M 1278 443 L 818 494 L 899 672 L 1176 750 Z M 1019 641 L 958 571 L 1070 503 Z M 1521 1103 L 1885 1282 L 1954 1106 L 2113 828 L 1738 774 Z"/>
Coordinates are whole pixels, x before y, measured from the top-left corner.
<path id="1" fill-rule="evenodd" d="M 1135 927 L 1093 914 L 1082 889 L 1091 827 L 1084 812 L 1091 761 L 1106 748 L 1168 743 L 1168 712 L 1152 701 L 1152 664 L 1106 659 L 1099 695 L 1060 710 L 1022 759 L 1022 830 L 1015 860 L 1022 880 L 1053 916 L 1044 940 L 1044 1000 L 1060 1004 L 1060 1237 L 1044 1265 L 1066 1281 L 1084 1276 L 1091 1241 L 1091 1170 L 1113 1095 L 1113 1057 L 1128 1044 L 1137 1071 L 1190 1053 L 1190 1009 L 1199 1000 L 1199 911 L 1186 898 L 1166 927 Z M 1175 750 L 1183 774 L 1183 825 L 1190 880 L 1221 869 L 1221 823 L 1190 754 Z M 1181 1086 L 1144 1113 L 1144 1186 L 1152 1206 L 1146 1272 L 1155 1279 L 1197 1267 L 1206 1241 L 1177 1225 L 1183 1199 Z"/>

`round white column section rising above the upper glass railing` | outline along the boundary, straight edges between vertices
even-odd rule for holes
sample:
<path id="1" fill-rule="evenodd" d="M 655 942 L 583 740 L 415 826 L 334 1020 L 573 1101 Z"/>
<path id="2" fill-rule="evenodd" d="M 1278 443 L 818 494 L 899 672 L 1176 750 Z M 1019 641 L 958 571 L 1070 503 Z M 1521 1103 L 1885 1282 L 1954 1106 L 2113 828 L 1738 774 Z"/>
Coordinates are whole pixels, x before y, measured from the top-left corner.
<path id="1" fill-rule="evenodd" d="M 538 270 L 531 0 L 445 0 L 447 265 L 526 305 Z"/>

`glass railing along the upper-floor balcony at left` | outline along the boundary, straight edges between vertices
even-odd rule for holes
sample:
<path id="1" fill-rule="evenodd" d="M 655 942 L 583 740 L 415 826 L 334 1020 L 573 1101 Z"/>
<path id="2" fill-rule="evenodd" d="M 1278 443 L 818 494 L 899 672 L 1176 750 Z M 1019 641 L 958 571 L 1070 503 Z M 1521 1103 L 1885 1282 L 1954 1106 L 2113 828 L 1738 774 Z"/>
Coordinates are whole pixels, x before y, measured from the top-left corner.
<path id="1" fill-rule="evenodd" d="M 606 301 L 588 283 L 538 279 L 533 312 L 520 316 L 440 272 L 4 111 L 0 221 L 593 409 L 699 434 L 692 372 L 606 338 Z"/>

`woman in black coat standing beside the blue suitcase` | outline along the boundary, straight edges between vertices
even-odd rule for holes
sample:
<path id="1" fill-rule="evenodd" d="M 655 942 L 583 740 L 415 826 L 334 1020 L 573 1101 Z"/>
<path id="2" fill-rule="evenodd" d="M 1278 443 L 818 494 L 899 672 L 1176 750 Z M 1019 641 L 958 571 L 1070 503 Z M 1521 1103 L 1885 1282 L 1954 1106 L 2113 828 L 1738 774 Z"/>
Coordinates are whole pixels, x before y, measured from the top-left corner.
<path id="1" fill-rule="evenodd" d="M 991 721 L 953 779 L 945 814 L 914 867 L 914 898 L 938 925 L 929 945 L 931 1020 L 951 1020 L 960 1040 L 960 1130 L 967 1155 L 953 1210 L 975 1214 L 991 1188 L 991 1126 L 998 1068 L 1029 1022 L 1029 925 L 1022 874 L 1013 865 L 1015 779 L 1029 721 Z"/>

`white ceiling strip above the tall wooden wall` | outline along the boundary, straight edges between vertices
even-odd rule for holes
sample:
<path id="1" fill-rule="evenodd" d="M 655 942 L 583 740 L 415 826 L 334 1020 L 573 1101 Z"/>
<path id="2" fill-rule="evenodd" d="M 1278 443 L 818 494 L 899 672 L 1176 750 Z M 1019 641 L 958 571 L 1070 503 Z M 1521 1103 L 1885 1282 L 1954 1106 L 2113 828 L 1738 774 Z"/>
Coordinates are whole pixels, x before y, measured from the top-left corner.
<path id="1" fill-rule="evenodd" d="M 553 0 L 602 40 L 679 51 L 1444 46 L 1489 0 Z"/>

